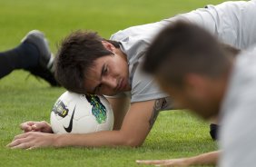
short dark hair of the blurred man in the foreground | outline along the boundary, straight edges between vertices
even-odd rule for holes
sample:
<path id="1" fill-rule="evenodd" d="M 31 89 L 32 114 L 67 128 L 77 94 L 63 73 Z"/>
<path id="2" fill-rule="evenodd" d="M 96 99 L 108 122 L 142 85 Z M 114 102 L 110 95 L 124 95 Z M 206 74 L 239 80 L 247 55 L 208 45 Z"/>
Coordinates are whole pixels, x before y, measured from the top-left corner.
<path id="1" fill-rule="evenodd" d="M 218 77 L 227 72 L 239 50 L 221 44 L 198 25 L 177 21 L 168 25 L 149 47 L 143 70 L 167 83 L 182 86 L 187 73 Z"/>

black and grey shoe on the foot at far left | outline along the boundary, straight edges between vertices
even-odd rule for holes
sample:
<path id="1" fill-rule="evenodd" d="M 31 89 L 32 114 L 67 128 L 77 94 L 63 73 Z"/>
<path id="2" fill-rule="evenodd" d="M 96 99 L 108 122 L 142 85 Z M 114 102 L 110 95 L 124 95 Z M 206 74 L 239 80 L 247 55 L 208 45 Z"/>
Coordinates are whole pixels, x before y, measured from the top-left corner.
<path id="1" fill-rule="evenodd" d="M 54 78 L 54 56 L 49 49 L 44 34 L 38 30 L 33 30 L 25 35 L 22 43 L 34 44 L 39 52 L 39 63 L 34 67 L 26 68 L 35 77 L 43 78 L 52 86 L 60 86 Z"/>

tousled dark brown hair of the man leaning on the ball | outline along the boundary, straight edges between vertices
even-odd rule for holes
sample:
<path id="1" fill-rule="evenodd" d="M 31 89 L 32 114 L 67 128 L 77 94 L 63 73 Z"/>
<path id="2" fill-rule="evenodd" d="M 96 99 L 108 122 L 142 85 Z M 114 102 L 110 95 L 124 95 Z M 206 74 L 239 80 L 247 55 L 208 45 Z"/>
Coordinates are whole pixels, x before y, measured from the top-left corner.
<path id="1" fill-rule="evenodd" d="M 105 40 L 95 32 L 78 30 L 65 37 L 55 57 L 56 80 L 69 91 L 86 93 L 84 79 L 88 69 L 97 58 L 113 54 L 105 49 L 102 41 L 119 47 L 117 42 Z"/>

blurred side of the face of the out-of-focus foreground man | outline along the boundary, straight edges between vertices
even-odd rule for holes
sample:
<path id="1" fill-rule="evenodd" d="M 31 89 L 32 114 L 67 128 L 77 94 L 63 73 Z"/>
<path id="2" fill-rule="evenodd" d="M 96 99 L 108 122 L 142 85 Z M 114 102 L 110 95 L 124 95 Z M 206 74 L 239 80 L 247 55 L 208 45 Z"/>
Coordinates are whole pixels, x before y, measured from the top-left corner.
<path id="1" fill-rule="evenodd" d="M 174 107 L 189 109 L 204 119 L 210 119 L 218 115 L 220 98 L 217 90 L 214 93 L 214 85 L 210 81 L 200 82 L 202 83 L 184 83 L 178 88 L 158 78 L 162 90 L 170 94 Z"/>

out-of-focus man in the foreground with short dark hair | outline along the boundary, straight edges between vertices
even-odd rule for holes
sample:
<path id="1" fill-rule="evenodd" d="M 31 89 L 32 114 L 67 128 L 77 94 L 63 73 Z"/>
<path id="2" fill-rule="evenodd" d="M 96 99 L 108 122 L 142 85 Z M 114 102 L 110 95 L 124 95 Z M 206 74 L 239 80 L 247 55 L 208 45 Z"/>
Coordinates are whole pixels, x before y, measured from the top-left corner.
<path id="1" fill-rule="evenodd" d="M 224 167 L 254 166 L 256 49 L 236 56 L 238 53 L 201 27 L 186 22 L 169 25 L 156 37 L 143 69 L 172 95 L 176 106 L 188 108 L 204 119 L 221 115 L 222 152 L 139 163 L 187 166 L 216 163 L 219 159 Z"/>

